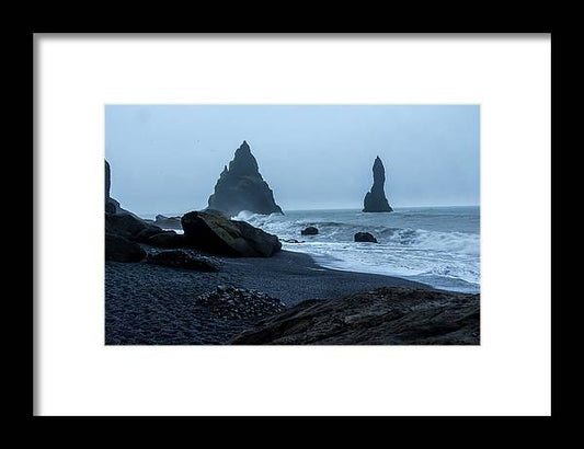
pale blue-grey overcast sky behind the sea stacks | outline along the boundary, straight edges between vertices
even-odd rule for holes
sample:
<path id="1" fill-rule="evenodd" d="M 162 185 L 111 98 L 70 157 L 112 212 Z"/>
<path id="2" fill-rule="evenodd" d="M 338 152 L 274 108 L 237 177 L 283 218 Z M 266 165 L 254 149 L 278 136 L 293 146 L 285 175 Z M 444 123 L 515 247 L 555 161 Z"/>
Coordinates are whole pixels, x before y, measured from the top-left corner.
<path id="1" fill-rule="evenodd" d="M 203 209 L 247 140 L 284 211 L 363 208 L 379 156 L 400 206 L 479 205 L 479 106 L 105 107 L 112 197 L 137 214 Z"/>

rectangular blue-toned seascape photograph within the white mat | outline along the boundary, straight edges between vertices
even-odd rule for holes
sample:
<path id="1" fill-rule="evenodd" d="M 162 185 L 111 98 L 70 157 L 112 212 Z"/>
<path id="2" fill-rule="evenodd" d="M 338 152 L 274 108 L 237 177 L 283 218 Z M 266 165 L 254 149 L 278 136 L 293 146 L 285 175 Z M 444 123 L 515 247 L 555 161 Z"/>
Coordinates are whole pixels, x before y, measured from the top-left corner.
<path id="1" fill-rule="evenodd" d="M 481 344 L 479 104 L 104 123 L 105 345 Z"/>

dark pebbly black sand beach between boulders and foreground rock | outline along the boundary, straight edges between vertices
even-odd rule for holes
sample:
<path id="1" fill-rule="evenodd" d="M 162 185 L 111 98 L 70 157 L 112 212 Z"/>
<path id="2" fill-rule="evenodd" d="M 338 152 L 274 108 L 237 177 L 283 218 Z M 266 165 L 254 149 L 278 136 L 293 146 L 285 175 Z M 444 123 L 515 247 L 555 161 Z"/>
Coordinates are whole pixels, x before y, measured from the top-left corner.
<path id="1" fill-rule="evenodd" d="M 287 307 L 380 287 L 431 289 L 397 277 L 323 268 L 310 256 L 289 251 L 267 258 L 215 258 L 220 267 L 218 273 L 106 262 L 105 344 L 228 344 L 257 320 L 221 319 L 196 304 L 197 296 L 220 285 L 263 291 Z"/>

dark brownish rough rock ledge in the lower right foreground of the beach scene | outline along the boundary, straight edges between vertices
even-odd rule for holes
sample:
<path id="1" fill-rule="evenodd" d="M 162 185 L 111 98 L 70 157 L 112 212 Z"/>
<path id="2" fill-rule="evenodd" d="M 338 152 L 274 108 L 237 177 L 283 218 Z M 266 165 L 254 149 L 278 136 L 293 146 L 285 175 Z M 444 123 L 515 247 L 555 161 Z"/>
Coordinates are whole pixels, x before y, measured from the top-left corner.
<path id="1" fill-rule="evenodd" d="M 260 321 L 239 345 L 478 345 L 480 296 L 387 287 L 308 300 Z"/>

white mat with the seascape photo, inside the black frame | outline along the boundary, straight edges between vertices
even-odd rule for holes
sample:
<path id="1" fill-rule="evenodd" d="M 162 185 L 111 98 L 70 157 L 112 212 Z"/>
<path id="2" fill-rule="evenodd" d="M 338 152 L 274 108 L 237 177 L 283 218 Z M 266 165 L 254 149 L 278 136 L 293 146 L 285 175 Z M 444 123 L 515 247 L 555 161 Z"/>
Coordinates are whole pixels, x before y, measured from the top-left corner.
<path id="1" fill-rule="evenodd" d="M 550 414 L 549 34 L 34 47 L 35 415 Z"/>

